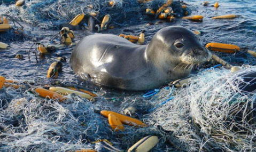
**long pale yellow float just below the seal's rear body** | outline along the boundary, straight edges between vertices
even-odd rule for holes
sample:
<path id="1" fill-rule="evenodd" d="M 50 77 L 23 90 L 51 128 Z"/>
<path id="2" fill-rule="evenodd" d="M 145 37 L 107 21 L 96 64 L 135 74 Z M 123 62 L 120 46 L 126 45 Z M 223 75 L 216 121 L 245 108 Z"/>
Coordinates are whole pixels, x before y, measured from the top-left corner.
<path id="1" fill-rule="evenodd" d="M 87 94 L 87 93 L 84 93 L 84 92 L 80 92 L 80 91 L 76 91 L 76 90 L 71 90 L 71 89 L 67 89 L 65 87 L 50 87 L 49 89 L 50 91 L 53 91 L 53 92 L 58 92 L 60 94 L 71 94 L 71 93 L 75 93 L 76 95 L 79 95 L 80 97 L 82 98 L 86 98 L 88 100 L 94 100 L 90 94 Z"/>

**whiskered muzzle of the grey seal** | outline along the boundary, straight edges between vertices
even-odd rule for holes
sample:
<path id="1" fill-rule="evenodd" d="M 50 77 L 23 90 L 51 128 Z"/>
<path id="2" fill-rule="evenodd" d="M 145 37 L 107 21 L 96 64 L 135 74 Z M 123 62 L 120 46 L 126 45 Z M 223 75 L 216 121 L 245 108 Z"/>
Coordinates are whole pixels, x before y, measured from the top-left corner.
<path id="1" fill-rule="evenodd" d="M 208 61 L 212 58 L 212 53 L 204 47 L 194 47 L 185 50 L 181 55 L 182 63 L 196 65 Z"/>

